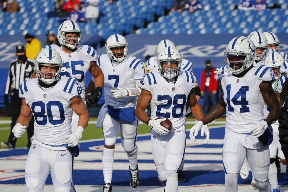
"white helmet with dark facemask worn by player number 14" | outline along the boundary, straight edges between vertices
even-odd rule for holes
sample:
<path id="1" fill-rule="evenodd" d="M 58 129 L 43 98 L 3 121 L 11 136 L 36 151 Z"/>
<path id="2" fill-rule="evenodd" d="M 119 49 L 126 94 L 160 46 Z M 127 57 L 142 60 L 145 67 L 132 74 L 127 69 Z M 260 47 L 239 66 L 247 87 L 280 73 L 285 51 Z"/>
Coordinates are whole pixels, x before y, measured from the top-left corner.
<path id="1" fill-rule="evenodd" d="M 255 50 L 253 42 L 247 37 L 235 37 L 226 47 L 224 62 L 233 74 L 240 74 L 253 65 Z"/>

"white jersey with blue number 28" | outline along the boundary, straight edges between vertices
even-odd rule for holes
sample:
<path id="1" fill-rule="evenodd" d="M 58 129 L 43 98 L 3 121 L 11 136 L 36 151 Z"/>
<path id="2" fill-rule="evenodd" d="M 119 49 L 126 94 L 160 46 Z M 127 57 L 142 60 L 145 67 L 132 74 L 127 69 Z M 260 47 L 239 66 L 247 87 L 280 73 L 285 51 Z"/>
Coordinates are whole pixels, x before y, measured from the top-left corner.
<path id="1" fill-rule="evenodd" d="M 188 95 L 196 86 L 196 77 L 189 71 L 181 71 L 174 85 L 168 83 L 158 72 L 144 75 L 141 88 L 152 95 L 151 119 L 166 117 L 172 122 L 173 129 L 183 127 Z"/>

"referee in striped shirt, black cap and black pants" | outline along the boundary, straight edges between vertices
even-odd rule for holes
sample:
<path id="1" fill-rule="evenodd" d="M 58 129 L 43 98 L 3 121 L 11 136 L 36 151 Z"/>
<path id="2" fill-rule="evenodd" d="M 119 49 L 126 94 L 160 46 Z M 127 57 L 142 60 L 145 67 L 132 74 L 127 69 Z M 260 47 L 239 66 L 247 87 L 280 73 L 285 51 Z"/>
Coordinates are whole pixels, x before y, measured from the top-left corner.
<path id="1" fill-rule="evenodd" d="M 19 44 L 16 46 L 16 56 L 17 59 L 11 61 L 9 67 L 9 73 L 6 83 L 4 103 L 6 106 L 10 106 L 10 112 L 12 116 L 12 123 L 10 128 L 10 135 L 7 142 L 1 142 L 3 148 L 15 149 L 16 139 L 12 133 L 12 129 L 15 126 L 16 120 L 20 115 L 20 109 L 22 105 L 22 99 L 19 98 L 19 86 L 26 79 L 30 79 L 34 72 L 34 62 L 26 57 L 25 46 Z M 36 75 L 35 75 L 36 76 Z M 11 96 L 11 103 L 8 101 L 8 94 Z M 27 128 L 28 134 L 28 143 L 27 148 L 31 146 L 30 138 L 33 136 L 34 131 L 34 118 L 31 119 L 31 122 Z"/>

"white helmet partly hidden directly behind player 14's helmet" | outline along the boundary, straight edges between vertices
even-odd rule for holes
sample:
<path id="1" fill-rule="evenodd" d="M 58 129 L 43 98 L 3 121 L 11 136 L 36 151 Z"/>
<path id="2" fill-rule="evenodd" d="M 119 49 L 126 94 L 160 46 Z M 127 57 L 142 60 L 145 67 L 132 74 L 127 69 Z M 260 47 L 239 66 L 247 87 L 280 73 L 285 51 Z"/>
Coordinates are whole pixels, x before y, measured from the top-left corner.
<path id="1" fill-rule="evenodd" d="M 255 60 L 261 61 L 266 54 L 266 49 L 268 46 L 265 35 L 263 35 L 259 31 L 253 31 L 248 35 L 248 38 L 253 42 L 256 49 L 262 49 L 263 50 L 263 53 L 255 53 Z M 256 50 L 256 52 L 257 52 L 257 50 Z"/>

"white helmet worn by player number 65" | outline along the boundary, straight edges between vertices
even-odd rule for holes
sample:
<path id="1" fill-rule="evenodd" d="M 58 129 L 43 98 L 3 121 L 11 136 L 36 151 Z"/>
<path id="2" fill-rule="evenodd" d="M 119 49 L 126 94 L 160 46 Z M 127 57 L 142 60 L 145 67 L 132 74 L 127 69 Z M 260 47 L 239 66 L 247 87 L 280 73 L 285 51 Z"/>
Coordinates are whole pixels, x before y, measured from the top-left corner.
<path id="1" fill-rule="evenodd" d="M 66 37 L 67 33 L 77 33 L 77 37 Z M 82 38 L 82 32 L 79 25 L 74 21 L 64 21 L 58 27 L 57 32 L 58 41 L 67 46 L 70 49 L 76 49 L 80 43 Z"/>

